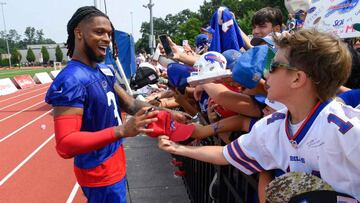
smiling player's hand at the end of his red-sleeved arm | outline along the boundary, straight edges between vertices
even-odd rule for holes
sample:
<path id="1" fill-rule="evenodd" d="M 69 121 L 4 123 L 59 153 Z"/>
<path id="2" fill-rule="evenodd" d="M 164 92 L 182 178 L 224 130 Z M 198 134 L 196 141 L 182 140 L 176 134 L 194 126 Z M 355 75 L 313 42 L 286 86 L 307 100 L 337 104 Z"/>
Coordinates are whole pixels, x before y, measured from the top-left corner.
<path id="1" fill-rule="evenodd" d="M 150 123 L 156 122 L 158 120 L 156 115 L 159 113 L 159 111 L 149 111 L 149 109 L 149 107 L 142 108 L 122 125 L 124 137 L 134 137 L 139 133 L 150 133 L 153 131 L 153 129 L 148 129 L 146 127 Z"/>

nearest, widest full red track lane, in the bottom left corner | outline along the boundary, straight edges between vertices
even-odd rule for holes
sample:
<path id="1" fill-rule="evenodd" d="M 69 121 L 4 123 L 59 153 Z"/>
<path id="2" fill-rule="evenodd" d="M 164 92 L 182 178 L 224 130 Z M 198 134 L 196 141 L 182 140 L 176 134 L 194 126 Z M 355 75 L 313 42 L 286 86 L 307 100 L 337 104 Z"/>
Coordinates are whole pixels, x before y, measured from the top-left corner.
<path id="1" fill-rule="evenodd" d="M 0 202 L 66 202 L 74 184 L 72 160 L 59 158 L 52 139 L 2 186 Z"/>

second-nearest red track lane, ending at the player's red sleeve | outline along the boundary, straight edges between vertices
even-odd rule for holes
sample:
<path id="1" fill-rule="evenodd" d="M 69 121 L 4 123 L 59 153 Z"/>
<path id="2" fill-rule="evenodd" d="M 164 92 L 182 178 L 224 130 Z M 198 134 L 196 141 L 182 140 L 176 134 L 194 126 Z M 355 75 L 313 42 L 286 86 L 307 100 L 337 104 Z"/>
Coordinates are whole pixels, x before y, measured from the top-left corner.
<path id="1" fill-rule="evenodd" d="M 45 129 L 41 128 L 43 124 L 46 125 Z M 50 114 L 47 114 L 32 125 L 29 125 L 3 142 L 0 142 L 0 180 L 53 133 L 53 119 Z"/>

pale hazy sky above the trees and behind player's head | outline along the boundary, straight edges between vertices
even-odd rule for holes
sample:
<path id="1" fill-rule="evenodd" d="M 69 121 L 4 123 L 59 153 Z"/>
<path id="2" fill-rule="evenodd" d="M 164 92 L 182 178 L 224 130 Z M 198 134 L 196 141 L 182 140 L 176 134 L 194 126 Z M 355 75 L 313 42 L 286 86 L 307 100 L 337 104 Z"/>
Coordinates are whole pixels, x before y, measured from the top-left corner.
<path id="1" fill-rule="evenodd" d="M 98 8 L 105 12 L 115 29 L 132 33 L 135 41 L 141 37 L 142 22 L 149 22 L 150 11 L 143 5 L 149 0 L 98 0 Z M 15 29 L 24 38 L 26 27 L 42 29 L 45 38 L 57 43 L 67 39 L 66 24 L 74 12 L 81 6 L 93 6 L 94 0 L 0 0 L 3 6 L 6 30 Z M 152 0 L 153 17 L 164 18 L 167 14 L 176 14 L 184 9 L 198 11 L 204 0 Z M 132 13 L 132 14 L 131 14 Z M 131 16 L 132 19 L 131 20 Z M 4 30 L 2 15 L 0 30 Z"/>

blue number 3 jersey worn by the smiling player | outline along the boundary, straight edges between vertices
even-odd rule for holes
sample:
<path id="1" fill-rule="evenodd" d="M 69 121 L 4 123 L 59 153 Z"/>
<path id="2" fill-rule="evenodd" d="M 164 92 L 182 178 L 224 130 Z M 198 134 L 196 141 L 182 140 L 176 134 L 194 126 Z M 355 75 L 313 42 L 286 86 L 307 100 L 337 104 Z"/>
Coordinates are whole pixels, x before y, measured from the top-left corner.
<path id="1" fill-rule="evenodd" d="M 114 71 L 102 64 L 96 68 L 79 61 L 69 61 L 51 84 L 45 101 L 52 106 L 84 110 L 81 131 L 95 132 L 121 124 L 119 100 L 115 95 Z M 109 159 L 122 139 L 101 149 L 75 156 L 75 166 L 94 168 Z"/>

